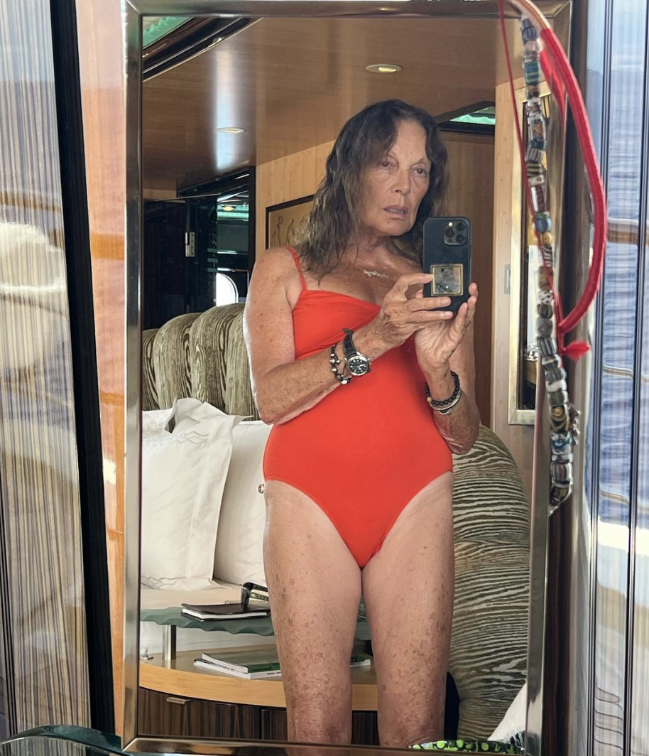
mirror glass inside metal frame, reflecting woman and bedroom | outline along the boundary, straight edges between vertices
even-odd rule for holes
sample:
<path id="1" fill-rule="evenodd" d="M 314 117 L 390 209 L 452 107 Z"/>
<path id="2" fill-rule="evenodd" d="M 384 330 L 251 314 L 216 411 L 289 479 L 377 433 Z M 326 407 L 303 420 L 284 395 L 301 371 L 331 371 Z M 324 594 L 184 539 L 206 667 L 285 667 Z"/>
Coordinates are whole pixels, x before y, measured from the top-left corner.
<path id="1" fill-rule="evenodd" d="M 506 741 L 531 437 L 493 380 L 521 196 L 497 22 L 237 20 L 178 57 L 177 21 L 143 95 L 139 731 Z"/>

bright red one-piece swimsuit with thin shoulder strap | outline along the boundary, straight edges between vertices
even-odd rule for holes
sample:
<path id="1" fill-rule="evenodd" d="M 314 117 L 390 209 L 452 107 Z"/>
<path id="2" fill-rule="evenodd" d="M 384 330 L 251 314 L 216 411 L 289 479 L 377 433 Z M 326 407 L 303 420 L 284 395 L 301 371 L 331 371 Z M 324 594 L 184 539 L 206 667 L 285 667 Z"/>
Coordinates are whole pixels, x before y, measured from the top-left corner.
<path id="1" fill-rule="evenodd" d="M 329 349 L 375 318 L 379 305 L 307 289 L 293 308 L 295 359 Z M 413 336 L 372 362 L 372 370 L 338 386 L 310 410 L 270 431 L 264 479 L 310 497 L 329 517 L 363 568 L 418 491 L 453 470 L 435 425 Z"/>

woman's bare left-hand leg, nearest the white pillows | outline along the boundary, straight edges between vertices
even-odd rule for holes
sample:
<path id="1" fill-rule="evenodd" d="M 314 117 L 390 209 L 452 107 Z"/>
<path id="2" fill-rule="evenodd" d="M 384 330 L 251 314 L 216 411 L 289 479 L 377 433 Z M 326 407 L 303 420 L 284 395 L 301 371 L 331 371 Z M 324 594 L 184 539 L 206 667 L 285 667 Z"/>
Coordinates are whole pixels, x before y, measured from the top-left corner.
<path id="1" fill-rule="evenodd" d="M 289 740 L 349 742 L 349 658 L 360 569 L 332 522 L 306 494 L 269 480 L 264 497 L 264 569 Z"/>

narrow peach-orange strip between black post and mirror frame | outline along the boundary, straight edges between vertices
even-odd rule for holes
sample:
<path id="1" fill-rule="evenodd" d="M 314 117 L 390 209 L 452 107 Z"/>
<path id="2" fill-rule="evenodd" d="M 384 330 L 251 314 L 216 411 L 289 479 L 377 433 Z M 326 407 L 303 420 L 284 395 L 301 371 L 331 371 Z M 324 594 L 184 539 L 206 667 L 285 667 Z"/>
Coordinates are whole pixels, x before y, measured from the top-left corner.
<path id="1" fill-rule="evenodd" d="M 88 215 L 97 338 L 116 732 L 122 732 L 124 627 L 125 111 L 119 0 L 79 0 Z"/>

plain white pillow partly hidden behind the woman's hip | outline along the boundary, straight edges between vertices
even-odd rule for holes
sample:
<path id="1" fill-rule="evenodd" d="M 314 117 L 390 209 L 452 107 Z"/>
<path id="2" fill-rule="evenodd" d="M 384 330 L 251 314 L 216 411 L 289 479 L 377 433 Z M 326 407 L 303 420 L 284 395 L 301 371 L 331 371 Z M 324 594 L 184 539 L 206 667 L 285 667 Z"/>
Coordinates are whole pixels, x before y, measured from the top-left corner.
<path id="1" fill-rule="evenodd" d="M 239 423 L 221 503 L 214 556 L 214 576 L 229 583 L 261 583 L 264 578 L 264 482 L 261 463 L 272 426 L 261 420 Z"/>

